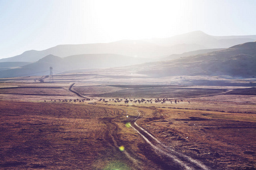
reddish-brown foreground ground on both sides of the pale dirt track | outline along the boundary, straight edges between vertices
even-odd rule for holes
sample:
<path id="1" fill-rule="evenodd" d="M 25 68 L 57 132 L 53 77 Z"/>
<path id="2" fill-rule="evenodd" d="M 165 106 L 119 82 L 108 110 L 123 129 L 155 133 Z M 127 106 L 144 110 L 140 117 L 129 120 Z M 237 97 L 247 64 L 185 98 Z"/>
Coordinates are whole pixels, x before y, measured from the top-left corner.
<path id="1" fill-rule="evenodd" d="M 154 152 L 126 118 L 212 169 L 253 169 L 255 116 L 188 109 L 1 101 L 4 169 L 182 169 Z M 118 147 L 124 146 L 129 154 Z M 135 160 L 135 162 L 134 162 Z"/>

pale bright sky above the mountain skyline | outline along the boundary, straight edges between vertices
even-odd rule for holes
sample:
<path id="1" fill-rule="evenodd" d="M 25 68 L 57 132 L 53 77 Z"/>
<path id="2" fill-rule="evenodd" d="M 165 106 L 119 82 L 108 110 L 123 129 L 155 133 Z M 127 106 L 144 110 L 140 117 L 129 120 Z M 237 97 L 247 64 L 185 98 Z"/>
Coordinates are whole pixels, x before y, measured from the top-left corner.
<path id="1" fill-rule="evenodd" d="M 256 35 L 255 0 L 0 0 L 0 58 L 60 44 Z"/>

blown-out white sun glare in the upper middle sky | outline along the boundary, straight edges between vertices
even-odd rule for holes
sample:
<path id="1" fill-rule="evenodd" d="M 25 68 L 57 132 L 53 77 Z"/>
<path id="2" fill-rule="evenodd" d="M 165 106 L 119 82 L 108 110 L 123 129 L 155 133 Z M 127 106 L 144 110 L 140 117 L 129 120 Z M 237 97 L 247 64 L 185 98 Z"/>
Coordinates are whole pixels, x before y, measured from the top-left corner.
<path id="1" fill-rule="evenodd" d="M 144 39 L 184 29 L 191 3 L 184 1 L 94 1 L 90 8 L 100 36 Z M 86 6 L 86 5 L 83 5 Z M 96 8 L 97 6 L 97 8 Z M 84 12 L 84 19 L 87 14 Z M 185 28 L 187 29 L 187 28 Z M 84 29 L 86 31 L 86 29 Z"/>

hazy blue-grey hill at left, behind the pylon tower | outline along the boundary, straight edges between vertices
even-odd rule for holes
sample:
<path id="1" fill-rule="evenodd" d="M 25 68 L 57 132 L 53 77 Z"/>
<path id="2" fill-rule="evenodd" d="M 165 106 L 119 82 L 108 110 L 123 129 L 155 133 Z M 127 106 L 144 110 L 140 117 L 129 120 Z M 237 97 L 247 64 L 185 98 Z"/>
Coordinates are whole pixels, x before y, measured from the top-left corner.
<path id="1" fill-rule="evenodd" d="M 121 67 L 135 65 L 150 61 L 147 58 L 127 57 L 117 54 L 81 54 L 60 58 L 48 55 L 38 62 L 24 65 L 17 69 L 0 71 L 0 78 L 32 75 L 48 75 L 49 67 L 53 67 L 53 74 L 68 72 L 78 69 L 99 69 L 105 67 Z"/>

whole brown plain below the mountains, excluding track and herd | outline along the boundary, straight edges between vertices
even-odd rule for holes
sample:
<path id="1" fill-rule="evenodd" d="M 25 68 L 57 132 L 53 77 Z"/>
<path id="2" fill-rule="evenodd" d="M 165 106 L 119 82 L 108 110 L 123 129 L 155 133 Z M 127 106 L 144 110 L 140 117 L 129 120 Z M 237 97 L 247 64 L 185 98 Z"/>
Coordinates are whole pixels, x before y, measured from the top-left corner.
<path id="1" fill-rule="evenodd" d="M 0 169 L 205 169 L 179 154 L 207 169 L 256 168 L 254 88 L 76 83 L 72 89 L 92 99 L 81 101 L 70 86 L 0 83 Z M 125 97 L 172 104 L 125 104 Z M 135 127 L 138 114 L 137 124 L 160 144 Z"/>

